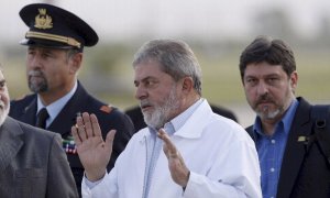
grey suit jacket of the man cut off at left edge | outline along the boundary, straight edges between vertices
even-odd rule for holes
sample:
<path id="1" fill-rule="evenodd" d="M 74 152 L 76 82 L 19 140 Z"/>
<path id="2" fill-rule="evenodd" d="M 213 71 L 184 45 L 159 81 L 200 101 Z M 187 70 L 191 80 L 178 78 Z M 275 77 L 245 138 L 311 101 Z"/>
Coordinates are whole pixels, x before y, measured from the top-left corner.
<path id="1" fill-rule="evenodd" d="M 8 117 L 0 129 L 0 197 L 78 197 L 58 134 Z"/>

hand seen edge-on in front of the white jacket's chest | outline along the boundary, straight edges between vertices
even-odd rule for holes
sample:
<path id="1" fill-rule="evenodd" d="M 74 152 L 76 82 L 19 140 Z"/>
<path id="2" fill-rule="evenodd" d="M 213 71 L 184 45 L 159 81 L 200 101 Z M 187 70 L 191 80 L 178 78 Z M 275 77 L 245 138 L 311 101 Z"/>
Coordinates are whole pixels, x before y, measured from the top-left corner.
<path id="1" fill-rule="evenodd" d="M 168 160 L 168 168 L 173 180 L 186 188 L 189 180 L 189 169 L 185 165 L 183 156 L 163 129 L 160 129 L 158 138 L 164 141 L 163 150 Z"/>

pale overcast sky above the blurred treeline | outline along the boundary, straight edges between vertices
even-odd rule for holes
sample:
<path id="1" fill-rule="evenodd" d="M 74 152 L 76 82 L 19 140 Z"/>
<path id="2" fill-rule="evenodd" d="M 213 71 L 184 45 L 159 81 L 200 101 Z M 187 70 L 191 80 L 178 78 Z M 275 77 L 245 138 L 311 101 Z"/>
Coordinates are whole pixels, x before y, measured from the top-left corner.
<path id="1" fill-rule="evenodd" d="M 4 1 L 4 0 L 2 0 Z M 20 40 L 28 28 L 22 7 L 41 0 L 10 0 L 0 8 L 0 41 Z M 330 14 L 330 0 L 53 0 L 88 22 L 101 40 L 153 36 L 244 36 L 262 10 L 284 9 L 302 35 L 319 28 L 320 14 Z"/>

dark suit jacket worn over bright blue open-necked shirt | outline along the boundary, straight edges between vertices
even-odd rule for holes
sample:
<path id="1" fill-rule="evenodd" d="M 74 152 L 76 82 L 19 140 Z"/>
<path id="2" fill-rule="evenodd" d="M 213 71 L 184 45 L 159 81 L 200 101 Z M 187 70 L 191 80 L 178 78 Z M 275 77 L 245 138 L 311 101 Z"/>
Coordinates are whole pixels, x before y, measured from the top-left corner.
<path id="1" fill-rule="evenodd" d="M 330 167 L 314 138 L 311 106 L 302 98 L 298 100 L 283 156 L 277 197 L 329 198 Z M 255 140 L 252 130 L 252 127 L 246 129 Z M 298 141 L 302 136 L 309 138 L 309 141 Z"/>

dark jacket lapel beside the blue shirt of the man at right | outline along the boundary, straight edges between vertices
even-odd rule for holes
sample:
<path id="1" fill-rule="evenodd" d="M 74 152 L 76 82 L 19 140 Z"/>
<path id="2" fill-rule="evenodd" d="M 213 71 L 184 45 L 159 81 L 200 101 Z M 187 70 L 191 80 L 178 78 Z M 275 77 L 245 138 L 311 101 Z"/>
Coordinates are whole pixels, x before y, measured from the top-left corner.
<path id="1" fill-rule="evenodd" d="M 290 196 L 306 154 L 306 142 L 298 141 L 298 139 L 309 136 L 311 132 L 312 122 L 309 114 L 311 106 L 301 98 L 298 98 L 298 100 L 299 106 L 293 120 L 283 156 L 277 197 Z"/>

